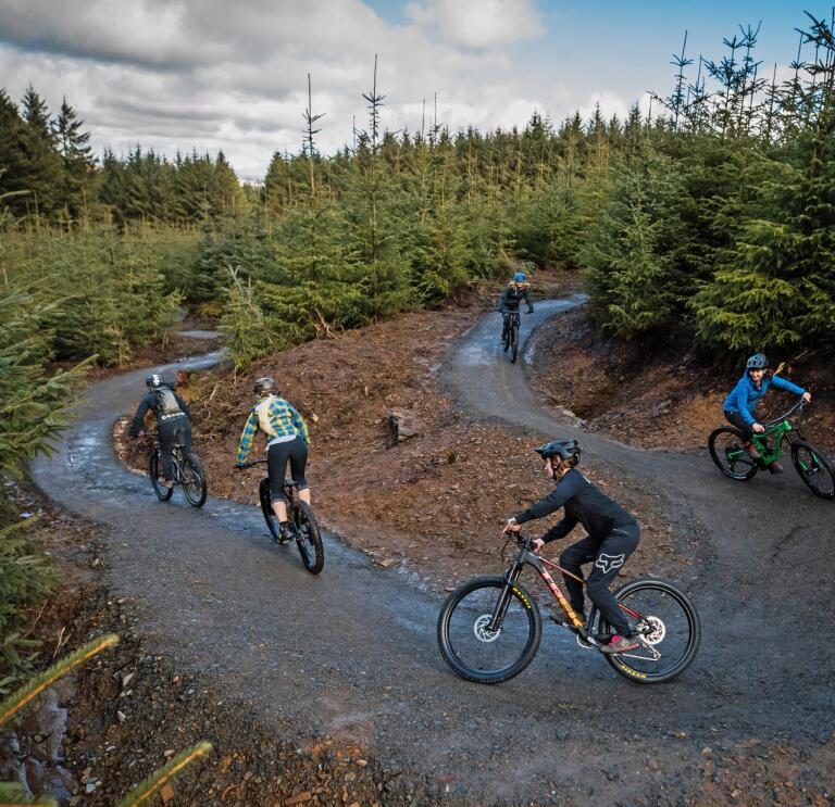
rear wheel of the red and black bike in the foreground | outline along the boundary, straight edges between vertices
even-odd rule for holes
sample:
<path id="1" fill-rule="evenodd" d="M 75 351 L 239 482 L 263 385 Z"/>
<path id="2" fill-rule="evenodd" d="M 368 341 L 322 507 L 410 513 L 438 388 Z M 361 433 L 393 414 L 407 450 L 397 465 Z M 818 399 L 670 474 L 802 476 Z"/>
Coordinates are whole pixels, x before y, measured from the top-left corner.
<path id="1" fill-rule="evenodd" d="M 624 678 L 636 683 L 663 683 L 684 672 L 696 657 L 701 642 L 701 622 L 684 592 L 663 580 L 635 580 L 614 593 L 625 606 L 633 633 L 643 647 L 633 653 L 607 655 L 606 660 Z M 612 627 L 594 613 L 589 623 L 599 621 L 593 633 L 612 633 Z"/>

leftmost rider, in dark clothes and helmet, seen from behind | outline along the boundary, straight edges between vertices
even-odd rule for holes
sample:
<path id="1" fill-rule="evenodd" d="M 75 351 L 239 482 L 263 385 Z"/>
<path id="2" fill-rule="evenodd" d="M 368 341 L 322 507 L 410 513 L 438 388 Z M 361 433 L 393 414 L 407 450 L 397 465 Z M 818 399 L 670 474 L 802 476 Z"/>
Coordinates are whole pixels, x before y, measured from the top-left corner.
<path id="1" fill-rule="evenodd" d="M 159 373 L 148 376 L 145 383 L 148 387 L 148 393 L 139 402 L 127 433 L 130 437 L 144 437 L 145 416 L 148 412 L 153 412 L 160 440 L 163 483 L 166 488 L 173 488 L 174 468 L 171 452 L 175 445 L 182 445 L 183 456 L 197 465 L 197 457 L 191 449 L 191 413 L 186 402 L 174 392 L 174 384 L 165 381 Z"/>

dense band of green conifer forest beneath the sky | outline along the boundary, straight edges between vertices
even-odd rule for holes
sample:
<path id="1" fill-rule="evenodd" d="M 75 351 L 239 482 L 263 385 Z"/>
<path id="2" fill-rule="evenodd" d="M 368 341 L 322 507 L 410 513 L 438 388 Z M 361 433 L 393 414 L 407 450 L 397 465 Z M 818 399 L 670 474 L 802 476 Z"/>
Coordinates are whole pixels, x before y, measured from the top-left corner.
<path id="1" fill-rule="evenodd" d="M 683 49 L 655 114 L 625 121 L 383 131 L 375 75 L 353 142 L 321 155 L 309 105 L 304 148 L 259 188 L 223 154 L 96 162 L 66 102 L 50 119 L 33 88 L 21 109 L 0 93 L 4 280 L 62 301 L 53 355 L 107 363 L 160 339 L 182 300 L 221 315 L 245 365 L 436 304 L 506 255 L 581 270 L 623 338 L 686 329 L 719 357 L 831 346 L 835 46 L 825 21 L 807 28 L 789 80 L 763 77 L 740 28 L 715 62 Z"/>

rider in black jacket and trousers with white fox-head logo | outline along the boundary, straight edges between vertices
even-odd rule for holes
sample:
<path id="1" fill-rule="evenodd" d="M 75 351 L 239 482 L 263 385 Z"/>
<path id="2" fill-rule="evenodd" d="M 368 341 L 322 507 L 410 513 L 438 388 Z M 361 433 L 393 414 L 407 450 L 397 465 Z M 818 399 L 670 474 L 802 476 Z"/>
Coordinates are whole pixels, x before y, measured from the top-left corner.
<path id="1" fill-rule="evenodd" d="M 638 522 L 577 470 L 581 449 L 576 440 L 553 440 L 535 451 L 545 459 L 545 471 L 549 479 L 557 482 L 557 487 L 536 504 L 511 518 L 507 529 L 519 532 L 525 521 L 544 518 L 564 507 L 562 520 L 533 542 L 534 550 L 538 551 L 544 544 L 564 538 L 577 524 L 583 525 L 588 534 L 562 551 L 560 564 L 582 578 L 581 565 L 594 563 L 586 580 L 588 596 L 615 631 L 609 644 L 600 650 L 609 654 L 636 650 L 640 644 L 633 636 L 628 620 L 618 607 L 609 584 L 638 545 Z M 568 575 L 563 575 L 563 578 L 571 607 L 585 621 L 583 585 Z"/>

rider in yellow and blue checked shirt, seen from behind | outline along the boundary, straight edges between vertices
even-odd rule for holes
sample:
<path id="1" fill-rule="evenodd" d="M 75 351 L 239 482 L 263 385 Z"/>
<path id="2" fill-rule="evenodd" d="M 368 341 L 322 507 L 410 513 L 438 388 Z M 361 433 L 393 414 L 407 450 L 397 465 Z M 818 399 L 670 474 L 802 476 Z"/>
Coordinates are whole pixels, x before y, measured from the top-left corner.
<path id="1" fill-rule="evenodd" d="M 266 469 L 270 476 L 270 492 L 273 497 L 273 512 L 278 518 L 283 541 L 292 538 L 287 518 L 287 496 L 284 492 L 284 474 L 287 461 L 290 474 L 299 492 L 299 499 L 310 504 L 310 486 L 304 478 L 308 463 L 310 436 L 301 415 L 275 390 L 272 378 L 259 378 L 254 383 L 258 400 L 249 412 L 244 433 L 240 436 L 235 467 L 240 468 L 247 461 L 252 441 L 258 431 L 266 437 Z"/>

